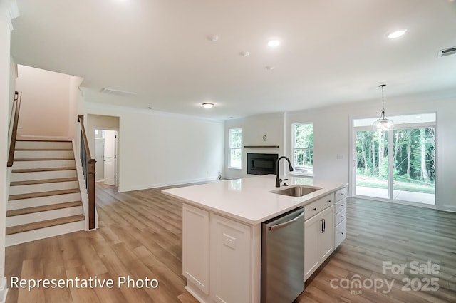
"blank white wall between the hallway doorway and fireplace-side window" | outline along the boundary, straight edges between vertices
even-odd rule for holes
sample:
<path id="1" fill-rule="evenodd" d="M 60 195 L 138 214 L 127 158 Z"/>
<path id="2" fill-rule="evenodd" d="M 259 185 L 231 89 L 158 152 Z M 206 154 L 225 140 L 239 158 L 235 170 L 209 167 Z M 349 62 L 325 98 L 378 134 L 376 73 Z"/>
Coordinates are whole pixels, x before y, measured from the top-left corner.
<path id="1" fill-rule="evenodd" d="M 86 102 L 90 115 L 120 117 L 119 191 L 216 180 L 224 167 L 224 124 Z"/>

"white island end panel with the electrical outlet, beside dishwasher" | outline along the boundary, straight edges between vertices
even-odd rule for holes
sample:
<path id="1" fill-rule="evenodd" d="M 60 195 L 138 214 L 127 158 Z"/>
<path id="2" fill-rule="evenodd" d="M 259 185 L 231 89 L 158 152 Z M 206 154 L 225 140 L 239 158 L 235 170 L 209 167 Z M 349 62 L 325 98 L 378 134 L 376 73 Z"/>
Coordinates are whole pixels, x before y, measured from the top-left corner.
<path id="1" fill-rule="evenodd" d="M 215 302 L 252 302 L 251 227 L 218 215 L 211 219 L 211 297 Z"/>

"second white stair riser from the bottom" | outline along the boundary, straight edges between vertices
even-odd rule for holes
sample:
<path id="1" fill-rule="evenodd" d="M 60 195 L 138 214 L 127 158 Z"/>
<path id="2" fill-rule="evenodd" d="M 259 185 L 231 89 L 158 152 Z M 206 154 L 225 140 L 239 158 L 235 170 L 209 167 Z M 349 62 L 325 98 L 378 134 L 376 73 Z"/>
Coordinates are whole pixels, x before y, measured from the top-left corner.
<path id="1" fill-rule="evenodd" d="M 17 215 L 13 217 L 6 217 L 6 227 L 23 225 L 33 222 L 58 219 L 61 217 L 69 217 L 73 215 L 83 215 L 83 207 L 66 207 L 60 210 L 47 210 L 46 212 L 33 212 L 26 215 Z"/>

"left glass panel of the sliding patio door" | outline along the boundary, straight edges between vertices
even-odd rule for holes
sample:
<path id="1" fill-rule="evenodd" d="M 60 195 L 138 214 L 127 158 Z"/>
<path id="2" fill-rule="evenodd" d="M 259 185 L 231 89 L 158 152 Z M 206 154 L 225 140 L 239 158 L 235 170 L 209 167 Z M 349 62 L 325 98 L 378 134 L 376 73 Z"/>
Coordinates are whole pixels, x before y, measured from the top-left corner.
<path id="1" fill-rule="evenodd" d="M 356 195 L 390 198 L 388 133 L 356 131 Z"/>

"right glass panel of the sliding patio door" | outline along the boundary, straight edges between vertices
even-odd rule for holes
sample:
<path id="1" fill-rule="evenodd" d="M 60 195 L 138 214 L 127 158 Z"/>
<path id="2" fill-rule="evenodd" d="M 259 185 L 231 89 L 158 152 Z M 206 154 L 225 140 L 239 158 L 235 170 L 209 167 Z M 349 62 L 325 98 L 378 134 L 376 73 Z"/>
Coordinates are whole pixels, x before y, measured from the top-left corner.
<path id="1" fill-rule="evenodd" d="M 435 205 L 435 128 L 393 130 L 394 200 Z"/>

